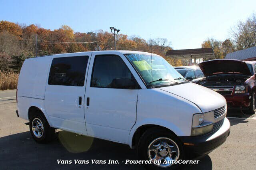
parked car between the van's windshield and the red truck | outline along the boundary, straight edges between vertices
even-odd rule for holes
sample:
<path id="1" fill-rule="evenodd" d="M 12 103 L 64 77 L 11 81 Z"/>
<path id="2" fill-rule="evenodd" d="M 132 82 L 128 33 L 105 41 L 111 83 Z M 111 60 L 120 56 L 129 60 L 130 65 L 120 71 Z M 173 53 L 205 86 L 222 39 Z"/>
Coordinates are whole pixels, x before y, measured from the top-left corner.
<path id="1" fill-rule="evenodd" d="M 204 77 L 204 73 L 198 66 L 180 66 L 174 67 L 186 80 L 196 83 Z"/>

